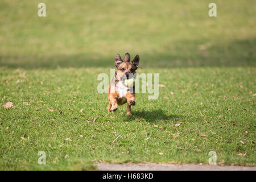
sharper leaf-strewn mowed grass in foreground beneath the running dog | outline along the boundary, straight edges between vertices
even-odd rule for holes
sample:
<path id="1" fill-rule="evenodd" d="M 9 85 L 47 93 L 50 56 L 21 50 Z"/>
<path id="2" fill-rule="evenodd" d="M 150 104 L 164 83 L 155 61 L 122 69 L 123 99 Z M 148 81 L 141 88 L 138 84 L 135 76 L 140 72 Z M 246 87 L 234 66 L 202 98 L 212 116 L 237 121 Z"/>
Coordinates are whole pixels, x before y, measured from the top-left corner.
<path id="1" fill-rule="evenodd" d="M 160 72 L 164 87 L 157 100 L 137 94 L 131 117 L 125 106 L 108 113 L 106 94 L 97 93 L 97 75 L 108 71 L 1 70 L 1 105 L 12 101 L 15 106 L 1 108 L 1 168 L 84 169 L 88 162 L 208 164 L 212 150 L 218 164 L 254 165 L 254 69 L 141 70 Z M 45 166 L 38 164 L 38 151 L 46 152 Z"/>

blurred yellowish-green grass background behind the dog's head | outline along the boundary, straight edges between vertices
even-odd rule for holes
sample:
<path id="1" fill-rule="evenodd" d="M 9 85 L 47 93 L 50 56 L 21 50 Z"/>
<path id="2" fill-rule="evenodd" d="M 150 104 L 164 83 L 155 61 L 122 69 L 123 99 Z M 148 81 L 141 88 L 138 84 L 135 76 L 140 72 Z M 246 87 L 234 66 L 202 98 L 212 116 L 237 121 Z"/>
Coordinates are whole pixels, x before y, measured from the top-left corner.
<path id="1" fill-rule="evenodd" d="M 254 0 L 2 0 L 0 67 L 113 67 L 125 52 L 142 68 L 254 67 L 255 9 Z"/>

